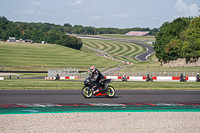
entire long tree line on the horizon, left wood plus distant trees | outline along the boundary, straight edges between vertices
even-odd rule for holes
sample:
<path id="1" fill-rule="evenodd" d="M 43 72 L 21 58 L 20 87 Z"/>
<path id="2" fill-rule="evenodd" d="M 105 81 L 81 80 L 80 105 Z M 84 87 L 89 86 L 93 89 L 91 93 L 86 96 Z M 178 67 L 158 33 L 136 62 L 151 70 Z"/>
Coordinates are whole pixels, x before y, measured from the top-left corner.
<path id="1" fill-rule="evenodd" d="M 27 22 L 13 22 L 6 17 L 0 16 L 0 39 L 6 41 L 9 37 L 16 39 L 31 39 L 36 43 L 45 41 L 51 44 L 59 44 L 74 49 L 81 49 L 82 42 L 74 36 L 69 34 L 125 34 L 129 31 L 149 31 L 149 35 L 156 35 L 158 28 L 95 28 L 91 26 L 74 25 L 65 23 L 63 26 L 51 23 L 27 23 Z"/>

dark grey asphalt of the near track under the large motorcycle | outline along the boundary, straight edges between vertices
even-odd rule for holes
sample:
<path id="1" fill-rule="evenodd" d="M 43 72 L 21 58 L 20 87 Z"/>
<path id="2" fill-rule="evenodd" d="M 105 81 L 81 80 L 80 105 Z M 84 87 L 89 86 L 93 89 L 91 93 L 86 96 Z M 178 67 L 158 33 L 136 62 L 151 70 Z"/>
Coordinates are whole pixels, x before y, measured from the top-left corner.
<path id="1" fill-rule="evenodd" d="M 200 103 L 200 91 L 116 90 L 115 98 L 81 95 L 81 90 L 0 90 L 0 104 L 16 103 Z"/>

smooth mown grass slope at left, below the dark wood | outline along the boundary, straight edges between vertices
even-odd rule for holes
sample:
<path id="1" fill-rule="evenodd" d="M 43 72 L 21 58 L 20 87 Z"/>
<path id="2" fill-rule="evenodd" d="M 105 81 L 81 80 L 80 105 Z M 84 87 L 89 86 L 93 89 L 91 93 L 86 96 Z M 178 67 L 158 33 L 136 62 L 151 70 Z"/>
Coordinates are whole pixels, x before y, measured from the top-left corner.
<path id="1" fill-rule="evenodd" d="M 113 64 L 117 64 L 116 61 L 61 45 L 0 43 L 0 65 L 5 66 L 4 70 L 45 71 L 67 66 L 84 68 L 91 65 L 107 67 Z"/>

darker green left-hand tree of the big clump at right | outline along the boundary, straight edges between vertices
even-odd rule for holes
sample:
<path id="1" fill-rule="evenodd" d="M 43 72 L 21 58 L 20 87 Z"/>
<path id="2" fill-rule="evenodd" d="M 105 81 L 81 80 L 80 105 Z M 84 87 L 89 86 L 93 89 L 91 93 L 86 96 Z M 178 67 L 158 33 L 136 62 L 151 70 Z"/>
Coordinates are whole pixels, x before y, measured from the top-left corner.
<path id="1" fill-rule="evenodd" d="M 156 51 L 156 57 L 159 60 L 173 60 L 180 57 L 180 54 L 175 54 L 176 45 L 180 48 L 181 44 L 178 39 L 180 39 L 180 33 L 184 31 L 189 25 L 191 19 L 190 18 L 177 18 L 171 23 L 165 22 L 160 27 L 160 31 L 156 36 L 156 44 L 154 45 L 154 49 Z M 175 41 L 177 40 L 177 41 Z M 166 52 L 166 49 L 170 50 Z"/>

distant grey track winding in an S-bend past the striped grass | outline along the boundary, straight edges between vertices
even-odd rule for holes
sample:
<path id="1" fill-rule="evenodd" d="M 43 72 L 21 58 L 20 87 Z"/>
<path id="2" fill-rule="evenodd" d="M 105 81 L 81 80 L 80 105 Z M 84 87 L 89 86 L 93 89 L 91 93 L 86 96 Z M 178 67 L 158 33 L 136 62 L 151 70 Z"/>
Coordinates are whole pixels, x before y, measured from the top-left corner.
<path id="1" fill-rule="evenodd" d="M 113 39 L 113 38 L 103 38 L 103 37 L 91 37 L 89 36 L 88 38 L 96 38 L 96 39 L 101 39 L 101 40 L 113 40 L 113 41 L 121 41 L 121 42 L 129 42 L 129 43 L 134 43 L 140 46 L 143 46 L 146 48 L 146 52 L 137 55 L 135 58 L 139 61 L 148 61 L 147 57 L 150 56 L 151 54 L 155 53 L 155 50 L 153 49 L 153 46 L 144 44 L 141 41 L 136 41 L 136 40 L 125 40 L 125 39 Z"/>

